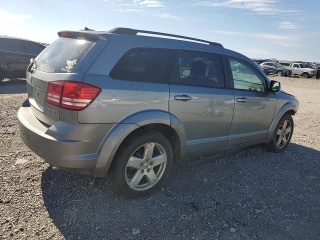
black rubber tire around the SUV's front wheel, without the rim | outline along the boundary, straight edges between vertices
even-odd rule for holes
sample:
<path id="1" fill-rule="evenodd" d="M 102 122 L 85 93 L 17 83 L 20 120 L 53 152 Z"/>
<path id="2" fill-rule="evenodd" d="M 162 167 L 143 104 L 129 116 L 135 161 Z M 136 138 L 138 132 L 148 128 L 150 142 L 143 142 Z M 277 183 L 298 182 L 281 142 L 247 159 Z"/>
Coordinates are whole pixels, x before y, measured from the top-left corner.
<path id="1" fill-rule="evenodd" d="M 276 144 L 276 139 L 277 139 L 277 130 L 279 129 L 279 127 L 281 126 L 281 124 L 283 123 L 284 120 L 288 120 L 290 121 L 290 126 L 291 126 L 291 131 L 290 131 L 290 135 L 288 136 L 287 142 L 284 146 L 282 146 L 281 148 L 277 146 Z M 278 124 L 276 125 L 276 128 L 272 134 L 272 138 L 270 141 L 268 141 L 265 144 L 265 149 L 268 151 L 272 151 L 272 152 L 282 152 L 285 150 L 285 148 L 288 146 L 291 137 L 292 137 L 292 133 L 293 133 L 293 118 L 290 114 L 285 113 L 281 119 L 279 120 Z"/>

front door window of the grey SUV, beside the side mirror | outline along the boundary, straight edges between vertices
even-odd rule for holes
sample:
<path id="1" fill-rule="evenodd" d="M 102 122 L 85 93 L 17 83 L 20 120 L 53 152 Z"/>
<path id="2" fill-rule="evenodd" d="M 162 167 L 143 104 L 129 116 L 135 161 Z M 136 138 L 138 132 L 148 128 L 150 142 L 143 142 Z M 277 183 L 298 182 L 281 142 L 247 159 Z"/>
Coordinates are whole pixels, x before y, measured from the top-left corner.
<path id="1" fill-rule="evenodd" d="M 233 77 L 233 87 L 251 91 L 264 91 L 264 77 L 250 64 L 233 57 L 229 57 Z M 235 66 L 241 69 L 235 70 Z"/>

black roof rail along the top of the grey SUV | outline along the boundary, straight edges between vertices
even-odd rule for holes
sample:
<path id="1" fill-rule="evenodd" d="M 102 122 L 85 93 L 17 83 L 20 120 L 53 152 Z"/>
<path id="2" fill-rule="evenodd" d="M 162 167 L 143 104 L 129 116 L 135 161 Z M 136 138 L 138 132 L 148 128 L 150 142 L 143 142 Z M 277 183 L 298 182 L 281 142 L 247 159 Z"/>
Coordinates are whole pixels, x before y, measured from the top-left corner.
<path id="1" fill-rule="evenodd" d="M 175 35 L 175 34 L 163 33 L 163 32 L 157 32 L 157 31 L 146 31 L 146 30 L 126 28 L 126 27 L 115 27 L 111 30 L 108 30 L 107 32 L 114 33 L 114 34 L 128 34 L 128 35 L 136 35 L 137 33 L 140 32 L 140 33 L 155 34 L 155 35 L 162 35 L 162 36 L 171 36 L 171 37 L 184 38 L 184 39 L 193 40 L 193 41 L 201 41 L 201 42 L 208 43 L 209 45 L 223 47 L 221 43 L 217 43 L 213 41 L 207 41 L 207 40 L 202 40 L 194 37 L 181 36 L 181 35 Z"/>

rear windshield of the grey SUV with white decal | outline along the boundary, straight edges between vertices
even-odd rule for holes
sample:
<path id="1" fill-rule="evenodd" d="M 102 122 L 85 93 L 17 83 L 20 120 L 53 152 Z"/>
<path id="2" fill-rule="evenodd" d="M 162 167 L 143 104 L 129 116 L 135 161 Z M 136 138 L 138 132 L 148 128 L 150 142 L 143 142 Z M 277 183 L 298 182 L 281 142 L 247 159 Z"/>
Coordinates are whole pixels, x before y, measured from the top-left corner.
<path id="1" fill-rule="evenodd" d="M 73 72 L 94 41 L 59 37 L 36 58 L 36 69 L 44 72 Z"/>

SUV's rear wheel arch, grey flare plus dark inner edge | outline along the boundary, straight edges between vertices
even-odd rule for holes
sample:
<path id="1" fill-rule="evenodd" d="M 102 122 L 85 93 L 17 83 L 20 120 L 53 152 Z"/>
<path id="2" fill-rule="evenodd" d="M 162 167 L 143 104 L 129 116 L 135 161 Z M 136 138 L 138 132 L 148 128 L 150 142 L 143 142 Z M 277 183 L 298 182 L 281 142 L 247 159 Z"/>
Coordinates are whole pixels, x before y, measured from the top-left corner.
<path id="1" fill-rule="evenodd" d="M 146 130 L 163 134 L 171 143 L 174 157 L 185 154 L 186 140 L 182 123 L 167 111 L 143 110 L 125 117 L 106 134 L 98 150 L 94 175 L 104 176 L 125 140 Z"/>

